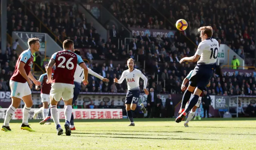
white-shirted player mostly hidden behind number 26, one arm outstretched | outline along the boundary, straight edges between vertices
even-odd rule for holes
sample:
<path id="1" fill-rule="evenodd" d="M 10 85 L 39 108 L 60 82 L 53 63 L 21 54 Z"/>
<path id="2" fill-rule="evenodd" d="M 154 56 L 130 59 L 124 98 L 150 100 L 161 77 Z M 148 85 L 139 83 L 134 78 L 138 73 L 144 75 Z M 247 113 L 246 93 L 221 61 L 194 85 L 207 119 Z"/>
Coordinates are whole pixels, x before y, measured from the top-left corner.
<path id="1" fill-rule="evenodd" d="M 80 55 L 80 51 L 78 49 L 75 49 L 74 53 L 76 53 L 77 55 Z M 95 73 L 90 68 L 87 68 L 87 69 L 88 69 L 88 73 L 90 75 L 93 75 L 93 76 L 101 79 L 104 82 L 109 82 L 108 79 L 102 77 L 98 73 Z M 79 93 L 81 91 L 81 83 L 82 83 L 82 80 L 84 79 L 83 71 L 84 70 L 79 65 L 77 65 L 76 71 L 75 71 L 75 74 L 74 74 L 74 85 L 75 85 L 75 88 L 74 88 L 74 97 L 73 97 L 72 105 L 74 105 L 74 103 L 76 102 L 76 99 L 78 98 L 78 95 L 79 95 Z M 44 124 L 46 122 L 50 122 L 50 120 L 51 120 L 51 113 L 49 111 L 47 118 L 44 118 L 44 120 L 42 120 L 40 122 L 40 124 Z M 70 130 L 76 130 L 76 128 L 74 126 L 74 116 L 73 116 L 73 114 L 72 114 L 71 119 L 70 119 Z"/>

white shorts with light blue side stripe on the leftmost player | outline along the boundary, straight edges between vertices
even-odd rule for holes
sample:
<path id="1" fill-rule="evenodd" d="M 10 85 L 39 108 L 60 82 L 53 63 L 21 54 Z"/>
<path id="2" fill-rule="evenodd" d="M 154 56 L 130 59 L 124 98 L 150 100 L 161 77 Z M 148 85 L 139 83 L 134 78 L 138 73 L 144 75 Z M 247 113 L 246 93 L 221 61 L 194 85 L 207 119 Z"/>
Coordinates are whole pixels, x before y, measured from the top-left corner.
<path id="1" fill-rule="evenodd" d="M 31 90 L 27 82 L 20 83 L 20 82 L 10 80 L 10 88 L 11 88 L 11 97 L 17 97 L 19 99 L 22 99 L 22 97 L 31 94 Z"/>

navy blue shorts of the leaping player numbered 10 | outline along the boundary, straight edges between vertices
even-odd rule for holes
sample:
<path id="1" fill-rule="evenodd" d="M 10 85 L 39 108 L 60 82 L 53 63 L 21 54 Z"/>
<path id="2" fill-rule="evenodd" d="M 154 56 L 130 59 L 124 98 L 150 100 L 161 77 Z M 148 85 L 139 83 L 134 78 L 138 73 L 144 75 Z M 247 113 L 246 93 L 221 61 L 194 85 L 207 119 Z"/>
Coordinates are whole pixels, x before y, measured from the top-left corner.
<path id="1" fill-rule="evenodd" d="M 197 64 L 189 79 L 189 85 L 192 87 L 198 87 L 198 89 L 203 91 L 206 85 L 208 85 L 215 68 L 216 64 Z"/>

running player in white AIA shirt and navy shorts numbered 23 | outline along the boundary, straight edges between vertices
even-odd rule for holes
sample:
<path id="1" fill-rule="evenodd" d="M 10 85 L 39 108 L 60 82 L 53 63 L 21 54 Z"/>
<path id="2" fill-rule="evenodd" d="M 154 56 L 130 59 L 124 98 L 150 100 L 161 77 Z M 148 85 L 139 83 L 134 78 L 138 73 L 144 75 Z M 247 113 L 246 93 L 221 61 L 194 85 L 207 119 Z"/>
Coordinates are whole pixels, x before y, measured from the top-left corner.
<path id="1" fill-rule="evenodd" d="M 140 78 L 144 80 L 144 92 L 146 95 L 148 95 L 149 92 L 146 89 L 148 79 L 145 77 L 145 75 L 143 75 L 143 73 L 140 70 L 134 68 L 134 60 L 132 58 L 127 60 L 127 66 L 129 69 L 125 70 L 122 73 L 121 78 L 119 80 L 115 78 L 114 82 L 121 84 L 124 81 L 124 79 L 126 79 L 127 81 L 128 91 L 125 99 L 127 117 L 131 122 L 129 126 L 135 126 L 132 111 L 135 111 L 135 109 L 141 109 L 143 113 L 146 113 L 146 109 L 142 103 L 139 106 L 137 105 L 138 99 L 140 97 L 139 81 Z"/>

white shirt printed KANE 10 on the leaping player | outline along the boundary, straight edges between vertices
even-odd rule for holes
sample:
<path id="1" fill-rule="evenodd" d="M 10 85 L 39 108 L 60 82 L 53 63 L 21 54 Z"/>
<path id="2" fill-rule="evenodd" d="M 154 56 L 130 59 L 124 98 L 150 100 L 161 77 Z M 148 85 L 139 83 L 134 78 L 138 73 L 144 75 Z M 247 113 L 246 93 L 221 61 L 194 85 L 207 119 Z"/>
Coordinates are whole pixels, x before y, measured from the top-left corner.
<path id="1" fill-rule="evenodd" d="M 214 64 L 217 61 L 219 42 L 216 39 L 208 38 L 198 45 L 196 55 L 200 55 L 197 63 Z"/>

